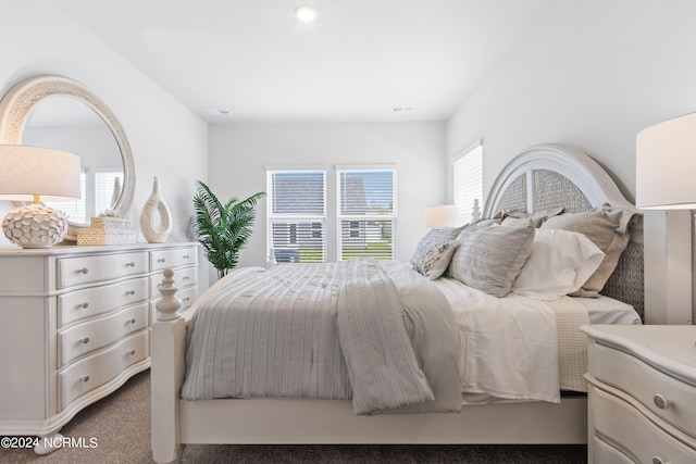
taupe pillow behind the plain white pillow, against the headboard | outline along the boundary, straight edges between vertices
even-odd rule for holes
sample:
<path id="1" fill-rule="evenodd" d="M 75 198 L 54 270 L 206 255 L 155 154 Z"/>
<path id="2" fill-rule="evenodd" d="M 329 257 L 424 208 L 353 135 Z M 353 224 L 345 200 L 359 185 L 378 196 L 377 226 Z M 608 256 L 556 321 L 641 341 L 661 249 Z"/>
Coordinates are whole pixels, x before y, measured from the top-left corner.
<path id="1" fill-rule="evenodd" d="M 561 214 L 549 217 L 542 228 L 572 230 L 585 235 L 604 253 L 605 259 L 587 279 L 576 297 L 598 297 L 619 263 L 621 253 L 631 238 L 629 225 L 637 213 L 610 205 L 595 208 L 584 213 Z"/>

